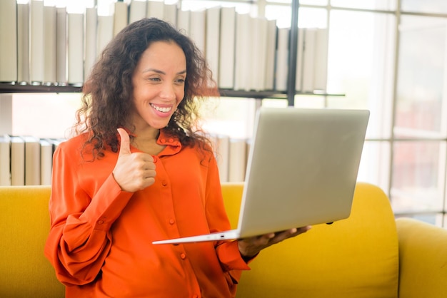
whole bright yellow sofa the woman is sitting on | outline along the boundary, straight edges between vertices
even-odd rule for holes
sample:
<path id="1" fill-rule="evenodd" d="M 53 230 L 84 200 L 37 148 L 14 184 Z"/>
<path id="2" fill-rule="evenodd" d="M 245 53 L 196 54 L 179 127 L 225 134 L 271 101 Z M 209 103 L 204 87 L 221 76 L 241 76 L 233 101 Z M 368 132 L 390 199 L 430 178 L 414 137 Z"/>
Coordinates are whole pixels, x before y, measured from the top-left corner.
<path id="1" fill-rule="evenodd" d="M 223 185 L 233 227 L 243 185 Z M 0 297 L 64 297 L 44 257 L 49 186 L 0 187 Z M 397 223 L 397 225 L 396 225 Z M 394 220 L 388 198 L 358 183 L 347 220 L 263 250 L 238 298 L 447 297 L 447 230 Z"/>

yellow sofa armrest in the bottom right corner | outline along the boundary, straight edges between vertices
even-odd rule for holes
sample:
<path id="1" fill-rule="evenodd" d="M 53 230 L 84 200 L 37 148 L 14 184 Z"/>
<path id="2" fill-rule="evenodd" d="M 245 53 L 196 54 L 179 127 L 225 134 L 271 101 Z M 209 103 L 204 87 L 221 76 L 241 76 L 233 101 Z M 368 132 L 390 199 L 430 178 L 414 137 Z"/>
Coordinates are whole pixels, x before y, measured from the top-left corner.
<path id="1" fill-rule="evenodd" d="M 447 230 L 411 218 L 396 225 L 399 298 L 447 297 Z"/>

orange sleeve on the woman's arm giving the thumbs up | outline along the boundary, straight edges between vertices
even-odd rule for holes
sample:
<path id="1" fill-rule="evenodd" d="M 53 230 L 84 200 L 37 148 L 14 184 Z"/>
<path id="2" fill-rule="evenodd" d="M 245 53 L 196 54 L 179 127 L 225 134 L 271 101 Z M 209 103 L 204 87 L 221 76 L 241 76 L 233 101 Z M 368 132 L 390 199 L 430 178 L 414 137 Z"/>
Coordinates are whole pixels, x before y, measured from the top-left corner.
<path id="1" fill-rule="evenodd" d="M 62 143 L 54 153 L 51 230 L 45 247 L 58 279 L 67 285 L 86 284 L 96 278 L 111 247 L 110 227 L 132 195 L 121 191 L 108 160 L 104 160 L 91 173 L 105 177 L 104 182 L 99 180 L 99 190 L 91 197 L 78 175 L 83 167 L 93 165 L 76 158 L 81 156 L 77 145 Z"/>

